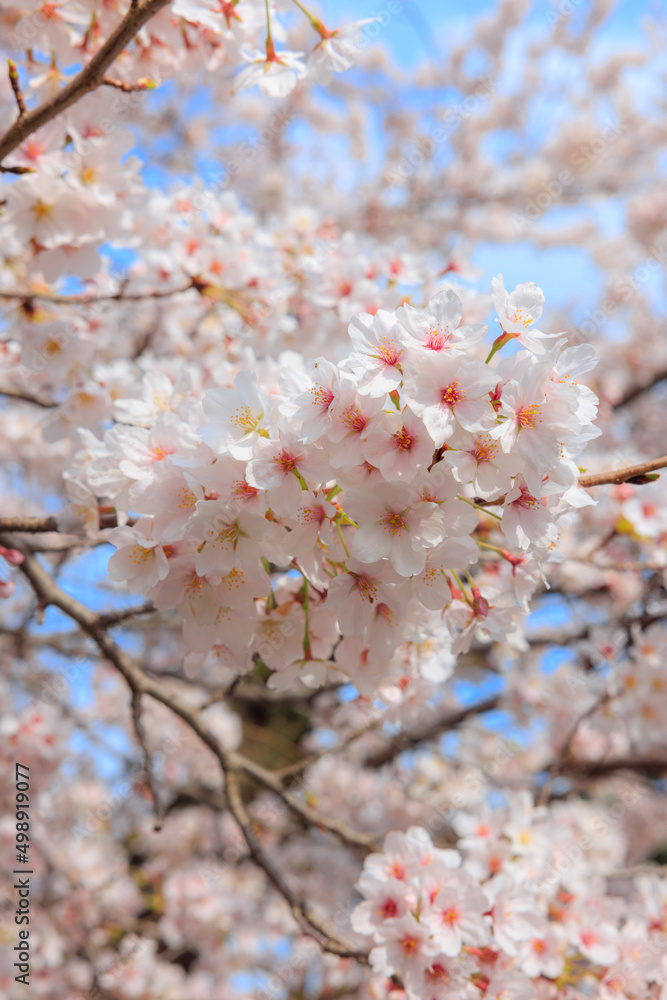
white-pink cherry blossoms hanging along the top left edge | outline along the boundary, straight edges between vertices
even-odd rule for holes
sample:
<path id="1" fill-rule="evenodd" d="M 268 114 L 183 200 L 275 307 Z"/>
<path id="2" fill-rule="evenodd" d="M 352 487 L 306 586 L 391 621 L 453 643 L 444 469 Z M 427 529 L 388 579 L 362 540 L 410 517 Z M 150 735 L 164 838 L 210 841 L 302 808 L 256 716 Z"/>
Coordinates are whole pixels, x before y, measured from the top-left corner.
<path id="1" fill-rule="evenodd" d="M 67 80 L 64 70 L 92 58 L 128 9 L 119 0 L 8 5 L 3 47 L 30 53 L 23 67 L 26 96 L 52 97 Z M 290 11 L 309 22 L 308 54 L 286 47 Z M 235 90 L 258 86 L 264 94 L 284 97 L 301 79 L 327 82 L 353 66 L 368 45 L 366 26 L 376 20 L 329 28 L 302 4 L 281 0 L 165 0 L 124 52 L 114 79 L 141 91 L 178 73 L 196 74 L 203 65 L 233 73 Z M 11 95 L 6 97 L 9 103 Z"/>

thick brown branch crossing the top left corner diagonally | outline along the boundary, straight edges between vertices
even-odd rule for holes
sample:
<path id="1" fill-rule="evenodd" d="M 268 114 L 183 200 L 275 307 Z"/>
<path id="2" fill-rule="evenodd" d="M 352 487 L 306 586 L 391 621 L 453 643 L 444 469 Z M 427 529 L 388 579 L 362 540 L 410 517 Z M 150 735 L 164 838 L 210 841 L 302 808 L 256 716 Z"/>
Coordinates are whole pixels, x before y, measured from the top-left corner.
<path id="1" fill-rule="evenodd" d="M 137 32 L 168 3 L 169 0 L 146 0 L 141 5 L 130 7 L 99 52 L 66 87 L 63 87 L 55 97 L 41 104 L 34 111 L 19 116 L 0 139 L 0 162 L 42 125 L 46 125 L 47 122 L 52 121 L 91 90 L 95 90 L 101 84 L 109 66 L 132 41 Z"/>

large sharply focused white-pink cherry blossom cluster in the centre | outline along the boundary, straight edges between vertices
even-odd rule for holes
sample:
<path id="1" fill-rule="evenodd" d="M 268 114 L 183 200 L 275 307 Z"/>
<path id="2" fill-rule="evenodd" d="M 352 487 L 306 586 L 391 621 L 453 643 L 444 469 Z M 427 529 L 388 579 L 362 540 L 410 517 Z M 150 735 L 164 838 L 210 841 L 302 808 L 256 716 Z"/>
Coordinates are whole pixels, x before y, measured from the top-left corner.
<path id="1" fill-rule="evenodd" d="M 203 398 L 147 373 L 101 440 L 82 436 L 68 476 L 141 515 L 109 535 L 109 573 L 177 609 L 187 669 L 259 657 L 272 686 L 342 674 L 372 691 L 406 650 L 437 683 L 512 632 L 560 519 L 590 502 L 575 458 L 596 398 L 575 379 L 596 359 L 536 329 L 535 285 L 496 279 L 494 299 L 486 362 L 486 327 L 462 326 L 447 290 L 354 317 L 338 364 L 281 355 L 269 391 L 247 368 Z M 473 577 L 480 548 L 494 570 Z"/>

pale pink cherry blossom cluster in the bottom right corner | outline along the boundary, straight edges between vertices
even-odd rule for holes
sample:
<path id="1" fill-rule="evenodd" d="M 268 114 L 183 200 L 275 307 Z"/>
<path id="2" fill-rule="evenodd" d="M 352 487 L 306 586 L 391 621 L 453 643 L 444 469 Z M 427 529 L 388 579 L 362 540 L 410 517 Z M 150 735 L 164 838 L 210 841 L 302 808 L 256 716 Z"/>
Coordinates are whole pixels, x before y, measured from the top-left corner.
<path id="1" fill-rule="evenodd" d="M 657 996 L 667 882 L 638 876 L 630 898 L 605 895 L 624 844 L 603 809 L 522 793 L 454 826 L 457 850 L 411 827 L 366 858 L 352 925 L 377 975 L 397 975 L 409 1000 Z"/>

